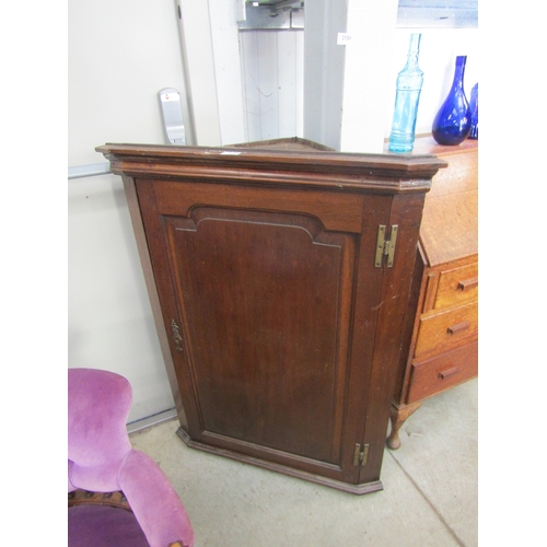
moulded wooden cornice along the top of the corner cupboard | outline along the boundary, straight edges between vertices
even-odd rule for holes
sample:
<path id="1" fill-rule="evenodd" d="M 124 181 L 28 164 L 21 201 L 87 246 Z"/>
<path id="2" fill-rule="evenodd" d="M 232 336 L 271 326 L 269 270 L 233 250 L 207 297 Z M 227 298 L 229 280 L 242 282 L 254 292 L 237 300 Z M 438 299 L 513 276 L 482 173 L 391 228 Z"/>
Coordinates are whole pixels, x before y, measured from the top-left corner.
<path id="1" fill-rule="evenodd" d="M 222 181 L 366 191 L 428 191 L 446 162 L 431 154 L 357 154 L 150 144 L 105 144 L 95 149 L 117 175 Z"/>

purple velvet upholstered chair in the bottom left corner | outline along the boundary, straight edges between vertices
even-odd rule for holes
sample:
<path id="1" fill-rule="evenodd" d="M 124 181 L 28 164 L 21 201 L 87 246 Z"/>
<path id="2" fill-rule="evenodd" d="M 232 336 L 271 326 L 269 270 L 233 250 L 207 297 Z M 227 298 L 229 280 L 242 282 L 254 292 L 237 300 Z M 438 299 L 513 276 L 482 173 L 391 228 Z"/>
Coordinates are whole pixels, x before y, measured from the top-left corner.
<path id="1" fill-rule="evenodd" d="M 124 376 L 68 371 L 69 547 L 194 545 L 190 520 L 166 476 L 131 447 L 131 398 Z"/>

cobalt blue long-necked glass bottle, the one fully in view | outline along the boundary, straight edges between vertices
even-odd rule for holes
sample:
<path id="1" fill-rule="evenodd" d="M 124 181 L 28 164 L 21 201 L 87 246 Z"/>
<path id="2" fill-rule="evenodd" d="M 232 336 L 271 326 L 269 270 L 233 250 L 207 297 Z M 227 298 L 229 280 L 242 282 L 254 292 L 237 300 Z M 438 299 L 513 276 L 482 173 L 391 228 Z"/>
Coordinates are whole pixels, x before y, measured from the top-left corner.
<path id="1" fill-rule="evenodd" d="M 469 103 L 464 92 L 466 61 L 466 55 L 456 57 L 452 88 L 433 120 L 431 132 L 439 144 L 459 144 L 467 138 L 472 129 Z"/>

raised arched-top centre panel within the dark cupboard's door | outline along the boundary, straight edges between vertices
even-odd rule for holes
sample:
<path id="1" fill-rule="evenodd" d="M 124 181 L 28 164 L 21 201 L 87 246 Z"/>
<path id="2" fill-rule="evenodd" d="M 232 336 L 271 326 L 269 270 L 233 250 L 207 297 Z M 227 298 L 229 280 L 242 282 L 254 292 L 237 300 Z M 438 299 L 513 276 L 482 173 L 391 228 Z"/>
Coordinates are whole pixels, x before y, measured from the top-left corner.
<path id="1" fill-rule="evenodd" d="M 237 209 L 164 229 L 203 432 L 337 463 L 353 236 Z"/>

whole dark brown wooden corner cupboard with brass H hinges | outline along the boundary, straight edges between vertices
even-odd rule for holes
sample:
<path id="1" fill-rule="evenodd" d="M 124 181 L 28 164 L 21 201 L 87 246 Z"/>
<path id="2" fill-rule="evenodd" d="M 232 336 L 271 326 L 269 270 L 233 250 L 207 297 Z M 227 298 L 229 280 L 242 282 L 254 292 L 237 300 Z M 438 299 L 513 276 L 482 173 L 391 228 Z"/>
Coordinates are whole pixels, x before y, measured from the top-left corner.
<path id="1" fill-rule="evenodd" d="M 105 144 L 189 446 L 382 489 L 434 155 Z"/>

